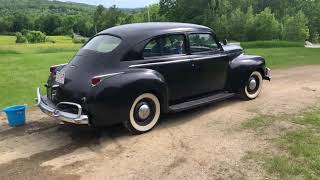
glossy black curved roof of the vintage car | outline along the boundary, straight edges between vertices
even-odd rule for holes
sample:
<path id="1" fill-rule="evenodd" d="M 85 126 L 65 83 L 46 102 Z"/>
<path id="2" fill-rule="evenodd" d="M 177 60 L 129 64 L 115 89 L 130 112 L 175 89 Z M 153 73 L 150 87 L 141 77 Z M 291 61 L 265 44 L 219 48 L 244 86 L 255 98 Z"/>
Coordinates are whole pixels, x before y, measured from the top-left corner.
<path id="1" fill-rule="evenodd" d="M 111 34 L 122 38 L 122 40 L 127 41 L 127 43 L 137 43 L 155 36 L 168 33 L 211 31 L 212 30 L 208 27 L 196 24 L 150 22 L 115 26 L 113 28 L 101 31 L 97 35 Z"/>

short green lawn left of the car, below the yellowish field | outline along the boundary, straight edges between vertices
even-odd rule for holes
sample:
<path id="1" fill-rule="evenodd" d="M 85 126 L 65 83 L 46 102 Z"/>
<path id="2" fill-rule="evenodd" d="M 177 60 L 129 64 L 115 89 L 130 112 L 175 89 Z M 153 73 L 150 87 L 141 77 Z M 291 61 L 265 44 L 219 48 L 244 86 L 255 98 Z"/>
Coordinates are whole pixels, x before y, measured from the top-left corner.
<path id="1" fill-rule="evenodd" d="M 42 87 L 53 64 L 68 62 L 74 52 L 6 54 L 0 56 L 0 107 L 34 105 L 35 88 Z"/>

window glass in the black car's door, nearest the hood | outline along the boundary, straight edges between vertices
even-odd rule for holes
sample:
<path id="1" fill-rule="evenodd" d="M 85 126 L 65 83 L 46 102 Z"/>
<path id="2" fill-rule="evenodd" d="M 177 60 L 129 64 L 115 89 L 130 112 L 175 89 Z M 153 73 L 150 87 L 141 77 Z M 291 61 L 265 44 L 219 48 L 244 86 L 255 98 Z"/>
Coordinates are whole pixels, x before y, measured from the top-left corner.
<path id="1" fill-rule="evenodd" d="M 218 45 L 211 34 L 189 35 L 190 49 L 192 53 L 215 51 Z"/>

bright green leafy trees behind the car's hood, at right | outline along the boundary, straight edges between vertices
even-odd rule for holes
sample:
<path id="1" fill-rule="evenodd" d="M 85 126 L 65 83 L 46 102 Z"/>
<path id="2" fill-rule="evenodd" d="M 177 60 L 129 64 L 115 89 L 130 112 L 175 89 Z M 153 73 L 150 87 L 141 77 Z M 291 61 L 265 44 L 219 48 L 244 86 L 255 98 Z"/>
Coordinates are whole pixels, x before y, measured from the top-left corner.
<path id="1" fill-rule="evenodd" d="M 160 14 L 238 41 L 319 40 L 320 0 L 160 0 Z"/>

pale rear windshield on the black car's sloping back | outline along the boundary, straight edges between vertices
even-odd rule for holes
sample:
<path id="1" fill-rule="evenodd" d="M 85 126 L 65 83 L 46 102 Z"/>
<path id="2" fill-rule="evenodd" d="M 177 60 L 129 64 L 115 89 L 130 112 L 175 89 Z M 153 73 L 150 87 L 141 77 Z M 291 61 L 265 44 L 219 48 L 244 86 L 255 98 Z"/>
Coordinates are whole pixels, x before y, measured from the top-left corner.
<path id="1" fill-rule="evenodd" d="M 82 49 L 108 53 L 117 48 L 121 39 L 110 35 L 100 35 L 91 39 Z"/>

